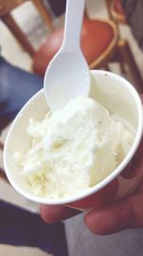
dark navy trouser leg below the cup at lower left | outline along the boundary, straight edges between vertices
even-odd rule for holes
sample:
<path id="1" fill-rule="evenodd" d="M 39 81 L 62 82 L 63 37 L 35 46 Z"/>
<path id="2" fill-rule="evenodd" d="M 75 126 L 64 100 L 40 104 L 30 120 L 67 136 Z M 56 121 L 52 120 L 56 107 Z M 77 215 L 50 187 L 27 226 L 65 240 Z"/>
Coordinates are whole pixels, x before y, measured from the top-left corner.
<path id="1" fill-rule="evenodd" d="M 41 248 L 68 256 L 63 223 L 47 224 L 38 214 L 0 200 L 0 243 Z"/>

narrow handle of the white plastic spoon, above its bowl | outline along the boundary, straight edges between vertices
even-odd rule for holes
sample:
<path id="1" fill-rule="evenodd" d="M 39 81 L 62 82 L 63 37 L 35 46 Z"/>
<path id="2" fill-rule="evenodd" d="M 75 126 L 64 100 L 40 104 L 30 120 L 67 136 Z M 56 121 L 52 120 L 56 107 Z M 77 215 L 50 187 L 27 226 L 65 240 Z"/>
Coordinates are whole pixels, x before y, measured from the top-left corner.
<path id="1" fill-rule="evenodd" d="M 80 32 L 82 28 L 85 0 L 67 0 L 65 29 L 62 48 L 76 51 L 80 48 Z"/>

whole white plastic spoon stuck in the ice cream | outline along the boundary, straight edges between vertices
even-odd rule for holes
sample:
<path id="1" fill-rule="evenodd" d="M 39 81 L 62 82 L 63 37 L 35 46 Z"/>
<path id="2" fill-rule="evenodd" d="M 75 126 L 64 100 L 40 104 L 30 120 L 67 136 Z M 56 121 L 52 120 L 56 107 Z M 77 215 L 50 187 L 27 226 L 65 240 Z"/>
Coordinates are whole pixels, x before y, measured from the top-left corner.
<path id="1" fill-rule="evenodd" d="M 80 49 L 85 0 L 67 0 L 62 46 L 46 70 L 44 89 L 51 110 L 66 105 L 77 96 L 88 96 L 91 77 Z"/>

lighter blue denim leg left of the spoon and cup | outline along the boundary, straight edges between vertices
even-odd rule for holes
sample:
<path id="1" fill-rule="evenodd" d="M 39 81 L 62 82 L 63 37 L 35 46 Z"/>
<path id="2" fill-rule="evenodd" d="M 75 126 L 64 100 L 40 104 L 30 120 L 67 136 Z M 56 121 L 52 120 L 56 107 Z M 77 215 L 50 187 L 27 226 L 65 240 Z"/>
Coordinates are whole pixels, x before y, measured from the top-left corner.
<path id="1" fill-rule="evenodd" d="M 42 87 L 43 78 L 0 58 L 0 131 Z"/>

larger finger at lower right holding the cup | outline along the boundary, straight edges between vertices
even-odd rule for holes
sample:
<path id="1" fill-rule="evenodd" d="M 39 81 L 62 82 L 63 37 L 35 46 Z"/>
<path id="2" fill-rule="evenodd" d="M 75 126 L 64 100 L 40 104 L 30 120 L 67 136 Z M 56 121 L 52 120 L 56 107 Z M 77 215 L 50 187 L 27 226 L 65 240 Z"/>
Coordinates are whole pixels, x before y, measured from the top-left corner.
<path id="1" fill-rule="evenodd" d="M 143 193 L 122 199 L 85 216 L 89 229 L 99 235 L 143 226 Z"/>

